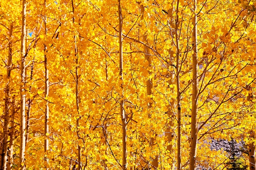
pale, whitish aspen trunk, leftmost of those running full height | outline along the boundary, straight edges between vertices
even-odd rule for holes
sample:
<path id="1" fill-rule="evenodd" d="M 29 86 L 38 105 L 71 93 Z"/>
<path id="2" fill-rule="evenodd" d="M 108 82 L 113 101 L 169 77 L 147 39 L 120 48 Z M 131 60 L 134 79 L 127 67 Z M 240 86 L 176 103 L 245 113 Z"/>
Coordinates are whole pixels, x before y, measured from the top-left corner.
<path id="1" fill-rule="evenodd" d="M 25 78 L 26 78 L 26 0 L 22 0 L 22 33 L 21 33 L 21 85 L 20 85 L 20 161 L 19 168 L 25 170 L 25 143 L 26 143 L 26 120 L 25 120 Z"/>

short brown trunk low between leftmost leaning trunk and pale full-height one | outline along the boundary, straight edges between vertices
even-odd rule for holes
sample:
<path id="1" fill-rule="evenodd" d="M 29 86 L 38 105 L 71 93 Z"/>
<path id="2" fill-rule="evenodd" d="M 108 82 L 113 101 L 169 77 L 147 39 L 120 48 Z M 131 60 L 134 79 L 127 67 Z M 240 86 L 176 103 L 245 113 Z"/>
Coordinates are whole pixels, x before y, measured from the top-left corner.
<path id="1" fill-rule="evenodd" d="M 9 132 L 10 142 L 9 142 L 9 157 L 8 157 L 8 165 L 7 170 L 12 170 L 13 165 L 13 135 L 14 135 L 14 119 L 15 119 L 15 98 L 12 98 L 12 106 L 11 106 L 11 128 Z"/>

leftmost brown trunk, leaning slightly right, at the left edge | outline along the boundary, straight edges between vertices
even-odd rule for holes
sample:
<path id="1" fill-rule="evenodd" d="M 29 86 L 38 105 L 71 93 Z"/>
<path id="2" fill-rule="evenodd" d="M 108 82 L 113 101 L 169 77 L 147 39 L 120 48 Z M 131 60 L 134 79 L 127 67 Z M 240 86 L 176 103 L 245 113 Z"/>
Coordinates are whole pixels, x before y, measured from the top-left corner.
<path id="1" fill-rule="evenodd" d="M 4 99 L 4 129 L 3 129 L 3 148 L 1 150 L 1 169 L 6 170 L 7 169 L 7 141 L 8 141 L 8 130 L 9 130 L 9 119 L 10 119 L 10 78 L 11 78 L 11 61 L 12 61 L 12 44 L 11 44 L 11 36 L 13 31 L 13 25 L 11 24 L 11 27 L 9 29 L 9 46 L 8 46 L 8 62 L 7 62 L 7 82 L 5 85 L 5 99 Z"/>

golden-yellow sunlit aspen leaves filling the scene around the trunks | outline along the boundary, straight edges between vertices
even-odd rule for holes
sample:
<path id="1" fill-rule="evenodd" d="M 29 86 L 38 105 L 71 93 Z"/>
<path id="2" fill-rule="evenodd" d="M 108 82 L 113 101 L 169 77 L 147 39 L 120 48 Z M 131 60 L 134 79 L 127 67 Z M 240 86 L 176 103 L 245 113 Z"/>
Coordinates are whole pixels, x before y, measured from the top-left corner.
<path id="1" fill-rule="evenodd" d="M 159 155 L 162 167 L 171 169 L 171 162 L 175 162 L 175 157 L 166 148 L 170 144 L 175 146 L 177 121 L 175 111 L 172 117 L 166 112 L 168 108 L 175 110 L 176 107 L 177 90 L 172 81 L 177 75 L 174 30 L 175 17 L 178 15 L 182 164 L 187 168 L 193 79 L 191 16 L 194 13 L 191 1 L 180 1 L 178 12 L 175 11 L 175 2 L 142 0 L 121 3 L 124 29 L 122 81 L 118 75 L 118 19 L 115 0 L 74 0 L 74 13 L 71 12 L 71 1 L 67 0 L 47 1 L 46 9 L 42 7 L 42 0 L 28 2 L 27 48 L 31 44 L 27 56 L 27 82 L 23 92 L 27 94 L 27 99 L 31 99 L 27 167 L 44 167 L 47 157 L 50 167 L 67 169 L 70 160 L 77 158 L 78 144 L 81 146 L 83 166 L 87 161 L 86 168 L 118 167 L 122 135 L 118 112 L 120 100 L 123 99 L 129 120 L 128 166 L 142 169 L 152 163 L 155 155 Z M 145 7 L 143 13 L 139 9 L 140 5 Z M 255 126 L 256 38 L 255 18 L 250 14 L 254 13 L 254 6 L 255 2 L 244 0 L 236 5 L 234 1 L 198 1 L 199 126 L 205 122 L 198 135 L 198 161 L 201 166 L 214 169 L 226 156 L 221 150 L 209 149 L 210 138 L 230 139 L 232 135 L 237 139 L 243 138 L 246 143 L 251 140 L 248 133 L 250 127 Z M 13 70 L 10 86 L 11 97 L 16 98 L 16 129 L 19 128 L 17 95 L 20 85 L 18 63 L 21 20 L 20 12 L 17 11 L 21 11 L 20 1 L 1 3 L 0 87 L 4 89 L 7 82 L 5 63 L 7 46 L 11 42 Z M 48 16 L 47 35 L 43 25 L 44 13 Z M 11 23 L 14 25 L 14 33 L 9 41 L 8 28 Z M 142 41 L 144 35 L 147 35 L 146 42 Z M 144 57 L 145 44 L 150 48 L 148 54 L 153 58 L 150 67 Z M 44 55 L 47 55 L 49 63 L 50 89 L 47 97 L 44 97 L 43 86 Z M 76 68 L 79 76 L 79 110 L 75 107 Z M 146 94 L 147 79 L 154 79 L 152 95 Z M 123 96 L 121 84 L 124 88 Z M 0 91 L 0 96 L 4 96 L 3 90 Z M 2 111 L 4 99 L 1 99 Z M 42 132 L 46 101 L 50 107 L 50 130 L 47 137 L 51 149 L 44 153 Z M 151 102 L 153 107 L 147 109 Z M 148 115 L 151 117 L 148 118 Z M 171 130 L 174 137 L 171 141 L 165 136 L 167 126 L 173 128 Z M 242 132 L 235 132 L 235 129 L 242 129 Z M 18 144 L 17 136 L 18 134 L 15 141 Z M 151 138 L 153 141 L 150 141 Z M 15 152 L 18 154 L 17 148 Z M 220 157 L 213 159 L 214 155 Z M 14 162 L 17 163 L 17 159 Z M 222 166 L 223 164 L 219 167 Z"/>

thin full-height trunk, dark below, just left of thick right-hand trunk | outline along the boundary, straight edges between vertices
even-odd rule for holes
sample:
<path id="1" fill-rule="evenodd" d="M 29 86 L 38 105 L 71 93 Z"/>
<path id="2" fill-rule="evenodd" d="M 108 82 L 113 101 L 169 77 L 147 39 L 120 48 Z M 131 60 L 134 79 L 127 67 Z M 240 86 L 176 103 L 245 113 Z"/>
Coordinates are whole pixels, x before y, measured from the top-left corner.
<path id="1" fill-rule="evenodd" d="M 175 20 L 175 40 L 176 40 L 176 90 L 177 90 L 177 123 L 178 123 L 178 139 L 177 139 L 177 170 L 181 168 L 181 105 L 180 105 L 180 48 L 179 48 L 179 0 L 177 0 L 176 20 Z"/>

